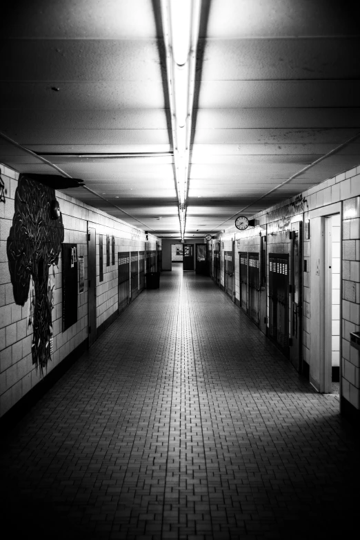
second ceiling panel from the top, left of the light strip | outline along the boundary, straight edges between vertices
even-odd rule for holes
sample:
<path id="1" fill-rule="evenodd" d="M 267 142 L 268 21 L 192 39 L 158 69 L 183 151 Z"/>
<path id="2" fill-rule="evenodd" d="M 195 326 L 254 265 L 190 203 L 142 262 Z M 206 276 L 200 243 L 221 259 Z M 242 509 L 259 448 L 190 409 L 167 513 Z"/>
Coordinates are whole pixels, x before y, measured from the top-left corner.
<path id="1" fill-rule="evenodd" d="M 157 39 L 13 40 L 6 43 L 1 79 L 161 81 L 159 46 Z"/>

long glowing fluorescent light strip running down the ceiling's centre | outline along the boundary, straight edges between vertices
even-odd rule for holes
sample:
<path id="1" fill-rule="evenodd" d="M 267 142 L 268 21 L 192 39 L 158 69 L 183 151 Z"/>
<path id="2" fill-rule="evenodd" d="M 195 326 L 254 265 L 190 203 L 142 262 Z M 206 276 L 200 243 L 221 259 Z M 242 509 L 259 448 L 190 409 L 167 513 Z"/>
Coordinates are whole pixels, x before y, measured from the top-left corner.
<path id="1" fill-rule="evenodd" d="M 181 239 L 185 236 L 190 136 L 201 0 L 161 0 Z"/>

